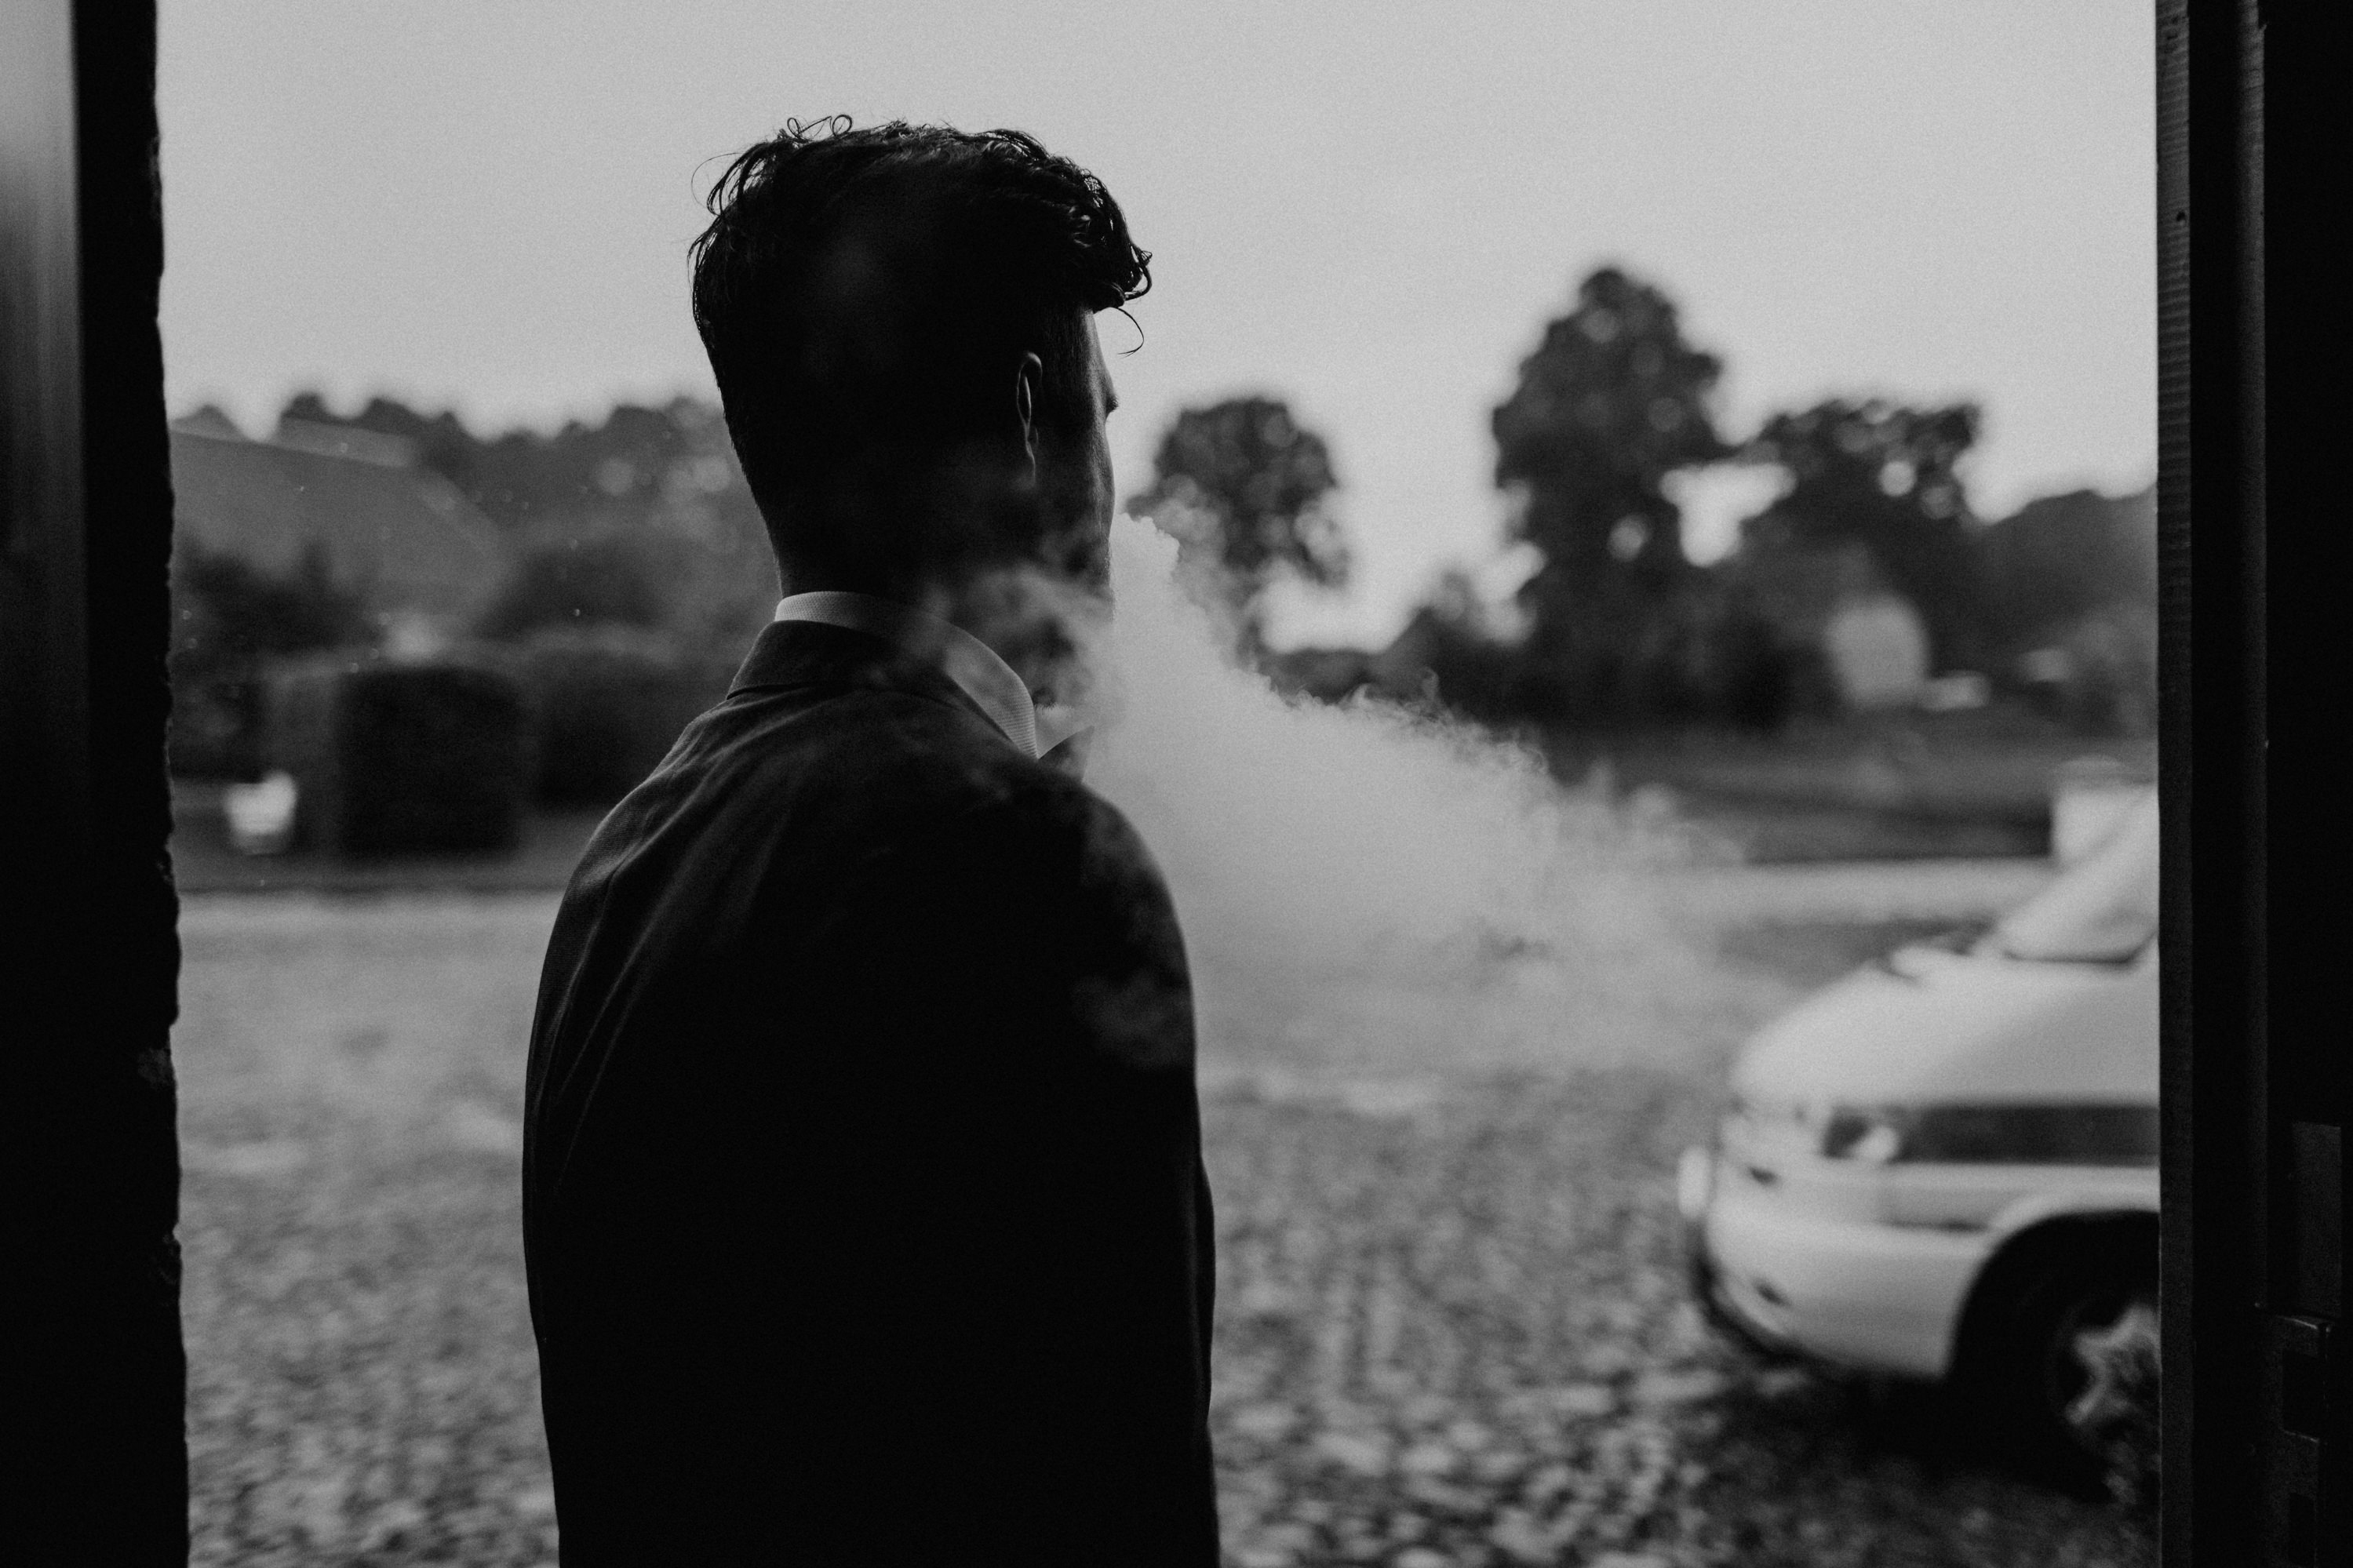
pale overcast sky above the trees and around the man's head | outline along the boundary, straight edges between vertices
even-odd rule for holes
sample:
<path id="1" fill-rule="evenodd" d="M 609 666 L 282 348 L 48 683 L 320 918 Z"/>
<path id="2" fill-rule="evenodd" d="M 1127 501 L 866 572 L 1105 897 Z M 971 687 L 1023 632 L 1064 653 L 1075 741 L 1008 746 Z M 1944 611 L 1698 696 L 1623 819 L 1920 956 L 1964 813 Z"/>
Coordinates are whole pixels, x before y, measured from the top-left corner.
<path id="1" fill-rule="evenodd" d="M 1497 555 L 1487 411 L 1602 261 L 1727 360 L 1734 435 L 1977 397 L 1981 512 L 2146 484 L 2151 52 L 2144 0 L 162 0 L 169 395 L 708 395 L 711 160 L 786 115 L 1012 125 L 1155 252 L 1122 487 L 1181 404 L 1289 397 L 1358 583 L 1278 632 L 1377 639 Z M 1748 503 L 1694 496 L 1694 548 Z"/>

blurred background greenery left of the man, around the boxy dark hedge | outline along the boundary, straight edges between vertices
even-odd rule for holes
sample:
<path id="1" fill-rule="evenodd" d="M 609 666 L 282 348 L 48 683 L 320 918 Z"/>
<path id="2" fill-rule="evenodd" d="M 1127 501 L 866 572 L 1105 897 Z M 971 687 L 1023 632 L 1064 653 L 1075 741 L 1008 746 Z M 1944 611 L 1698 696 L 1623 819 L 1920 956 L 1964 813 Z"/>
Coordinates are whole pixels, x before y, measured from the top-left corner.
<path id="1" fill-rule="evenodd" d="M 242 440 L 216 409 L 200 409 L 174 425 L 174 463 L 186 473 L 219 442 Z M 376 480 L 388 552 L 485 581 L 433 595 L 471 609 L 419 614 L 414 583 L 365 559 L 336 564 L 327 541 L 339 520 L 301 508 L 285 510 L 282 527 L 315 536 L 294 571 L 273 571 L 235 545 L 207 545 L 207 534 L 238 538 L 238 512 L 271 503 L 259 482 L 256 494 L 184 484 L 172 574 L 181 776 L 256 776 L 278 750 L 261 701 L 268 672 L 339 651 L 353 665 L 492 670 L 529 717 L 529 795 L 548 806 L 612 802 L 725 696 L 776 602 L 767 536 L 725 423 L 687 397 L 621 404 L 555 433 L 478 437 L 449 411 L 374 397 L 336 414 L 318 393 L 299 393 L 266 444 Z M 421 477 L 438 489 L 402 487 Z M 452 524 L 480 534 L 487 559 L 438 548 Z"/>

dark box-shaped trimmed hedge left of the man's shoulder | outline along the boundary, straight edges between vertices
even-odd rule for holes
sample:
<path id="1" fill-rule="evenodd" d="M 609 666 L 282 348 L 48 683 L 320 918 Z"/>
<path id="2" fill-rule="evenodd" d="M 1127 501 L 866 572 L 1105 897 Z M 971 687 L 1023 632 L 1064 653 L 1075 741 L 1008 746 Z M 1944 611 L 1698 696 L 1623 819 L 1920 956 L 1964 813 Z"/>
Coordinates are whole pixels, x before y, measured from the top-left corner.
<path id="1" fill-rule="evenodd" d="M 348 856 L 504 851 L 529 733 L 511 675 L 466 658 L 273 665 L 264 762 L 301 788 L 296 842 Z"/>

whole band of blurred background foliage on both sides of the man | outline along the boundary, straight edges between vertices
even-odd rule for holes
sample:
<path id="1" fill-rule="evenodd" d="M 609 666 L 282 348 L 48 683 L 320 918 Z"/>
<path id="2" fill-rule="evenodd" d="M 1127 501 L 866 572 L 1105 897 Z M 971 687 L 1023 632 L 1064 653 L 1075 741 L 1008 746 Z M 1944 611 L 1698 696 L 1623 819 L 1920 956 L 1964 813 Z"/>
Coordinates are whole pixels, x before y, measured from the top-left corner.
<path id="1" fill-rule="evenodd" d="M 1280 691 L 1445 710 L 1555 757 L 1953 710 L 1979 731 L 1993 715 L 2057 736 L 2151 733 L 2146 491 L 1984 520 L 1965 480 L 1974 404 L 1828 397 L 1739 433 L 1715 407 L 1722 374 L 1657 282 L 1586 275 L 1492 411 L 1508 501 L 1497 548 L 1522 562 L 1518 585 L 1497 592 L 1459 562 L 1377 649 L 1271 646 L 1268 590 L 1337 590 L 1351 564 L 1332 444 L 1282 397 L 1184 409 L 1129 510 L 1176 538 L 1233 658 Z M 261 496 L 238 475 L 264 470 L 224 468 L 224 442 L 311 470 Z M 447 409 L 374 397 L 339 414 L 296 393 L 261 442 L 216 409 L 176 421 L 176 473 L 200 461 L 231 477 L 181 484 L 172 743 L 186 776 L 254 773 L 273 661 L 487 649 L 544 731 L 541 802 L 609 799 L 725 693 L 776 595 L 725 421 L 694 397 L 478 435 Z M 1727 555 L 1697 562 L 1678 482 L 1727 465 L 1774 475 L 1779 494 Z M 353 543 L 360 524 L 322 508 L 362 501 Z"/>

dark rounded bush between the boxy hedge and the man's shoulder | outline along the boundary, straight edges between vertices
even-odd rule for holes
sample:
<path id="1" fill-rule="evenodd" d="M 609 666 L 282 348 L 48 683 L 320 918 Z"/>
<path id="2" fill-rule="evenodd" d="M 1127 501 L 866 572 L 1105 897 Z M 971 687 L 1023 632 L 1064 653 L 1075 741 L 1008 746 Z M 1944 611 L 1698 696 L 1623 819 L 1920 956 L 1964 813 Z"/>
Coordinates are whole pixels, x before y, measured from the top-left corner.
<path id="1" fill-rule="evenodd" d="M 532 698 L 546 804 L 607 804 L 668 755 L 687 719 L 727 693 L 727 672 L 626 625 L 548 628 L 511 668 Z"/>

